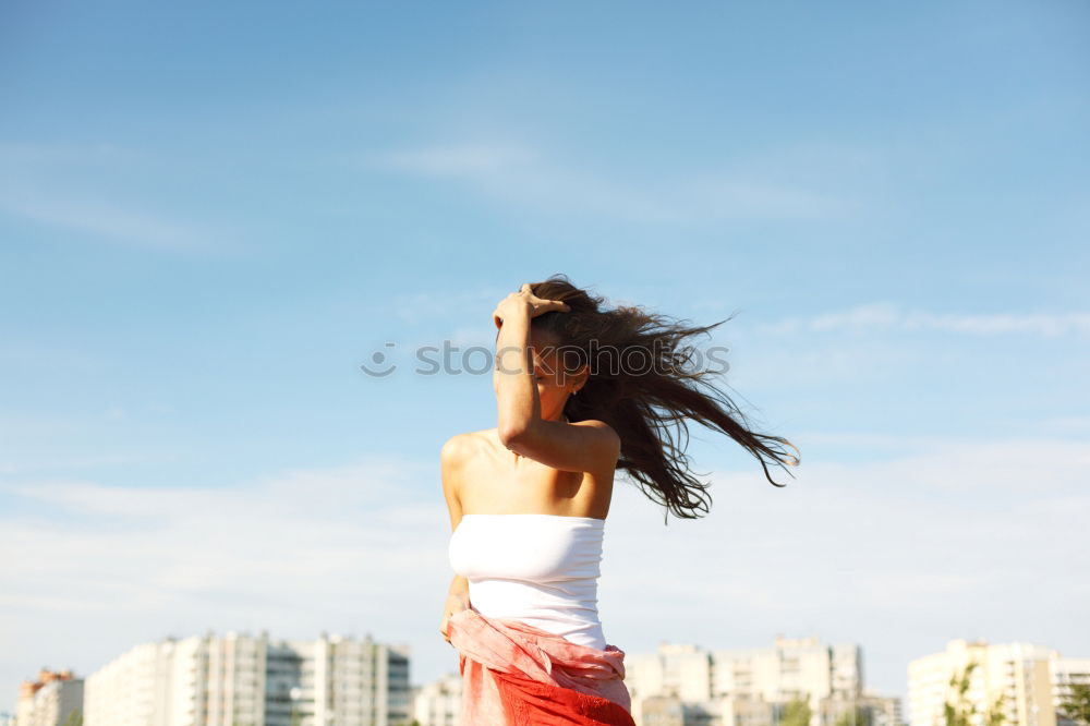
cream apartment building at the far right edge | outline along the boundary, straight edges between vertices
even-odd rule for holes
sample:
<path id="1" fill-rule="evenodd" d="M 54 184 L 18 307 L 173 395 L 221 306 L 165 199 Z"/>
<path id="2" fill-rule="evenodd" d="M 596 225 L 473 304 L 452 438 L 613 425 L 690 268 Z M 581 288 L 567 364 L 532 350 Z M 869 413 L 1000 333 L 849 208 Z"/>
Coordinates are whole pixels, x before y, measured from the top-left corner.
<path id="1" fill-rule="evenodd" d="M 976 724 L 984 724 L 994 710 L 1002 713 L 1004 726 L 1057 726 L 1056 707 L 1070 683 L 1090 682 L 1090 658 L 1064 658 L 1030 643 L 953 640 L 944 652 L 908 666 L 912 726 L 945 726 L 944 704 L 954 701 L 949 681 L 970 663 L 977 665 L 966 697 L 977 711 Z"/>

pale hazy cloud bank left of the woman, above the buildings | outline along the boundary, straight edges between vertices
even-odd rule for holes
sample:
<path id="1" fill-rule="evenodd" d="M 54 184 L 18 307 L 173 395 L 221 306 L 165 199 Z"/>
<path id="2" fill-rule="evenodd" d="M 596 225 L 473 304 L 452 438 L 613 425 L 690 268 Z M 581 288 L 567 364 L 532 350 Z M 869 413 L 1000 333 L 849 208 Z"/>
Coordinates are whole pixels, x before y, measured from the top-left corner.
<path id="1" fill-rule="evenodd" d="M 8 477 L 0 639 L 25 654 L 20 677 L 40 662 L 87 674 L 169 631 L 419 641 L 450 578 L 436 468 L 375 457 L 229 488 Z"/>

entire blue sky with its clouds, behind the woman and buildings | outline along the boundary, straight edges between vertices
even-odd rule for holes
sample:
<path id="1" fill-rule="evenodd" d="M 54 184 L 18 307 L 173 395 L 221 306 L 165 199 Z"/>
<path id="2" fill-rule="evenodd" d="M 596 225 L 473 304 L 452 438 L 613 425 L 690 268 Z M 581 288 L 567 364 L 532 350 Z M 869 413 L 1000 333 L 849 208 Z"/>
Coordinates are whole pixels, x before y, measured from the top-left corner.
<path id="1" fill-rule="evenodd" d="M 557 271 L 737 313 L 727 383 L 802 449 L 774 489 L 694 428 L 707 521 L 617 487 L 616 644 L 812 632 L 893 693 L 953 638 L 1090 654 L 1088 21 L 5 3 L 0 704 L 206 628 L 453 667 L 437 456 L 495 402 L 412 351 L 489 347 L 496 302 Z M 393 375 L 361 372 L 376 350 Z"/>

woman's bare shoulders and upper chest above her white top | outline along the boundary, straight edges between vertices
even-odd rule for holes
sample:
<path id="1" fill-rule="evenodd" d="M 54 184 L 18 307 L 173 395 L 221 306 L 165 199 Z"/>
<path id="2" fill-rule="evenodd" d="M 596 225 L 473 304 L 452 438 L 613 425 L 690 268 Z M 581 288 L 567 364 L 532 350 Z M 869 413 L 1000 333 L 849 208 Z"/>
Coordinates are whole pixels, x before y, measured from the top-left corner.
<path id="1" fill-rule="evenodd" d="M 462 515 L 543 513 L 605 519 L 609 512 L 616 462 L 608 471 L 553 469 L 517 456 L 496 428 L 459 436 L 464 458 L 453 486 Z"/>

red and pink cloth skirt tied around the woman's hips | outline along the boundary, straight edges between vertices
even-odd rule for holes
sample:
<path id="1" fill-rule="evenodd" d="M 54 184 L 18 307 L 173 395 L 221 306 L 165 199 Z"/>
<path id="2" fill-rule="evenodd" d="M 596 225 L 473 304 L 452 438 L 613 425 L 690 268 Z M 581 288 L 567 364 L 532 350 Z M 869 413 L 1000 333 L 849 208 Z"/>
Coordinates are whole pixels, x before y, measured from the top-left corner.
<path id="1" fill-rule="evenodd" d="M 459 726 L 635 726 L 625 652 L 470 607 L 447 620 L 462 675 Z"/>

